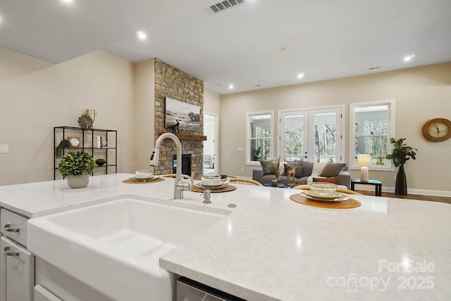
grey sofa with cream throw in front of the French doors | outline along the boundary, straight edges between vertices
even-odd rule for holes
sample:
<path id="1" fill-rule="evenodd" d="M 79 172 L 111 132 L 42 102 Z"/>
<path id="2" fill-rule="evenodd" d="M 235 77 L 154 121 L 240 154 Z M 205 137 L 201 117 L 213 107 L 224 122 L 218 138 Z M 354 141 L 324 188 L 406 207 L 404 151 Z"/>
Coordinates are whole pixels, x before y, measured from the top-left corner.
<path id="1" fill-rule="evenodd" d="M 302 174 L 301 177 L 295 177 L 294 181 L 295 184 L 301 185 L 301 184 L 310 184 L 313 180 L 313 178 L 319 178 L 319 179 L 327 179 L 326 177 L 320 177 L 320 174 L 322 170 L 326 167 L 327 164 L 333 165 L 336 163 L 313 163 L 313 162 L 307 162 L 307 161 L 295 161 L 295 162 L 286 162 L 290 166 L 296 166 L 300 165 L 302 166 Z M 282 171 L 280 172 L 279 179 L 282 184 L 288 184 L 288 176 L 284 175 L 286 174 L 283 170 L 284 164 L 281 163 Z M 287 166 L 287 165 L 285 165 Z M 314 168 L 315 167 L 315 168 Z M 315 170 L 314 170 L 315 169 Z M 313 173 L 313 175 L 312 175 Z M 348 189 L 350 189 L 351 186 L 351 175 L 347 171 L 347 165 L 342 169 L 341 172 L 337 175 L 338 178 L 338 185 L 344 185 Z M 260 167 L 258 169 L 254 169 L 252 171 L 252 179 L 255 181 L 259 181 L 261 184 L 271 184 L 271 180 L 276 179 L 276 176 L 272 173 L 267 174 L 267 171 L 265 172 L 263 167 Z"/>

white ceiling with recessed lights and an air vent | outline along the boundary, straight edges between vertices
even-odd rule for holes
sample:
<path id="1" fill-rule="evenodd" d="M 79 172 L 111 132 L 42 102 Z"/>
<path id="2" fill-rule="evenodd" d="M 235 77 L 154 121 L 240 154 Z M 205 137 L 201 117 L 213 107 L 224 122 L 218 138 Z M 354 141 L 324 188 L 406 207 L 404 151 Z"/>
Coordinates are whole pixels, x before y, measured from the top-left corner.
<path id="1" fill-rule="evenodd" d="M 218 94 L 451 62 L 450 0 L 245 0 L 213 13 L 218 2 L 1 0 L 0 46 L 51 63 L 96 49 L 159 58 Z"/>

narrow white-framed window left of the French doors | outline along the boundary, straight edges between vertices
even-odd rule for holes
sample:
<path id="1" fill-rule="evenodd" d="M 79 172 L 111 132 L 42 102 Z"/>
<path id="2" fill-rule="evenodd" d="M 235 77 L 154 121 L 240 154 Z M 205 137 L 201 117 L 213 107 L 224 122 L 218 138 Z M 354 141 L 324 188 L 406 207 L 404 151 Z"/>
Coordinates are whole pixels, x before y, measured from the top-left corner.
<path id="1" fill-rule="evenodd" d="M 272 154 L 273 112 L 246 113 L 246 164 L 270 160 Z"/>

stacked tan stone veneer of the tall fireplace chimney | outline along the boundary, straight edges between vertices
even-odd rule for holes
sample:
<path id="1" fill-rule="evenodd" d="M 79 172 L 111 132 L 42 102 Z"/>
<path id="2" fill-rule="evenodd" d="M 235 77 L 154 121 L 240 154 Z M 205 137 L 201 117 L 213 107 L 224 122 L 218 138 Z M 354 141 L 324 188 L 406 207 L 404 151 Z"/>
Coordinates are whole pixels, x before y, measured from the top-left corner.
<path id="1" fill-rule="evenodd" d="M 161 132 L 171 132 L 164 127 L 165 97 L 200 107 L 200 132 L 180 129 L 180 133 L 202 135 L 204 131 L 204 82 L 155 58 L 155 140 Z M 204 167 L 203 141 L 181 140 L 182 153 L 191 154 L 191 172 L 199 177 Z M 171 174 L 175 143 L 166 139 L 161 143 L 160 162 L 155 174 Z"/>

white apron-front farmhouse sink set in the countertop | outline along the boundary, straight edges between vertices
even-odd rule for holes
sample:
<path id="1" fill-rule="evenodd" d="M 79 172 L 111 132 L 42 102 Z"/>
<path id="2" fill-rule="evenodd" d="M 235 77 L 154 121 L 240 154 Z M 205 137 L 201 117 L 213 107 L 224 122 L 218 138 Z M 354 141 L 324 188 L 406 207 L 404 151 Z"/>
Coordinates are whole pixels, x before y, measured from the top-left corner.
<path id="1" fill-rule="evenodd" d="M 30 219 L 35 255 L 113 300 L 172 300 L 174 276 L 159 257 L 230 212 L 126 196 Z"/>

